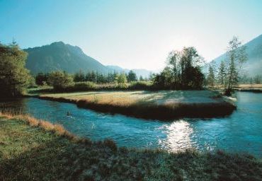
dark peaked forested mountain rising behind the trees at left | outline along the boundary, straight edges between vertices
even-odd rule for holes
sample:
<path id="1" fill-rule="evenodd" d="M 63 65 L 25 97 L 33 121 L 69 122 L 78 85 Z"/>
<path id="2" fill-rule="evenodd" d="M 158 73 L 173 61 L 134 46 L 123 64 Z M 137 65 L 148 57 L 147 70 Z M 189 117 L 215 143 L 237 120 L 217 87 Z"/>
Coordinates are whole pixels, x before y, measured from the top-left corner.
<path id="1" fill-rule="evenodd" d="M 24 49 L 28 52 L 28 60 L 25 67 L 31 73 L 50 71 L 99 71 L 108 73 L 110 69 L 98 62 L 96 59 L 87 56 L 81 48 L 64 44 L 64 42 L 53 42 L 50 45 Z"/>

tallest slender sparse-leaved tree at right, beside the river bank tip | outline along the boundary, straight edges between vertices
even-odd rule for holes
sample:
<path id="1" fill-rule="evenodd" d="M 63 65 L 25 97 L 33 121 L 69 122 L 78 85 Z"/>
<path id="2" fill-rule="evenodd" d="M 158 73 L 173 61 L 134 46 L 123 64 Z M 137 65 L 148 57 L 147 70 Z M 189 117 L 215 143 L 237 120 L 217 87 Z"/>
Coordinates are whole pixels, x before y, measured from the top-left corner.
<path id="1" fill-rule="evenodd" d="M 241 66 L 246 62 L 246 47 L 241 46 L 237 37 L 233 37 L 229 41 L 229 46 L 227 48 L 227 88 L 225 90 L 226 95 L 231 95 L 232 86 L 236 85 L 239 81 L 239 71 L 241 71 Z"/>

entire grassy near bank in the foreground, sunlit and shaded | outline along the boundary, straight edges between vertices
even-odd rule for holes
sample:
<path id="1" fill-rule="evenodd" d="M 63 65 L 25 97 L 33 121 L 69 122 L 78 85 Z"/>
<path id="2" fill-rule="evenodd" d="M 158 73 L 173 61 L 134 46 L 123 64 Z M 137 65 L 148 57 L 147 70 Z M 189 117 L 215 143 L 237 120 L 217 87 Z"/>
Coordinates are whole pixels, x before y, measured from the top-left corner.
<path id="1" fill-rule="evenodd" d="M 118 148 L 32 117 L 0 117 L 0 180 L 261 179 L 261 160 L 248 155 Z"/>

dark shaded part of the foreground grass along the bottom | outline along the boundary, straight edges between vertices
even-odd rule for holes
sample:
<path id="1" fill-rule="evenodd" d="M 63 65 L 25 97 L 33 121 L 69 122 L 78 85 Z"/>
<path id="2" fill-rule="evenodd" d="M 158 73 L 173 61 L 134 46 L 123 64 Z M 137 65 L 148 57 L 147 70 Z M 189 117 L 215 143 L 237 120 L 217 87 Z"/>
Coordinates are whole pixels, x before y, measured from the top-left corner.
<path id="1" fill-rule="evenodd" d="M 0 160 L 0 180 L 261 180 L 251 156 L 217 153 L 115 151 L 54 139 L 10 160 Z"/>

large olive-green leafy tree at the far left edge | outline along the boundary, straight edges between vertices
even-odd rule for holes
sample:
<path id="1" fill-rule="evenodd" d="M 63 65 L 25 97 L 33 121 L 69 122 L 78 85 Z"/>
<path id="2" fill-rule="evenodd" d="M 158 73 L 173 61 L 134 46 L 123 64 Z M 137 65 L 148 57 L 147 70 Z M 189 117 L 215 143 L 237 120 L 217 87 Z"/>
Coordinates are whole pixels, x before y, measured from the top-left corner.
<path id="1" fill-rule="evenodd" d="M 28 54 L 13 42 L 11 45 L 0 44 L 0 96 L 16 97 L 28 86 L 30 74 L 25 69 Z"/>

